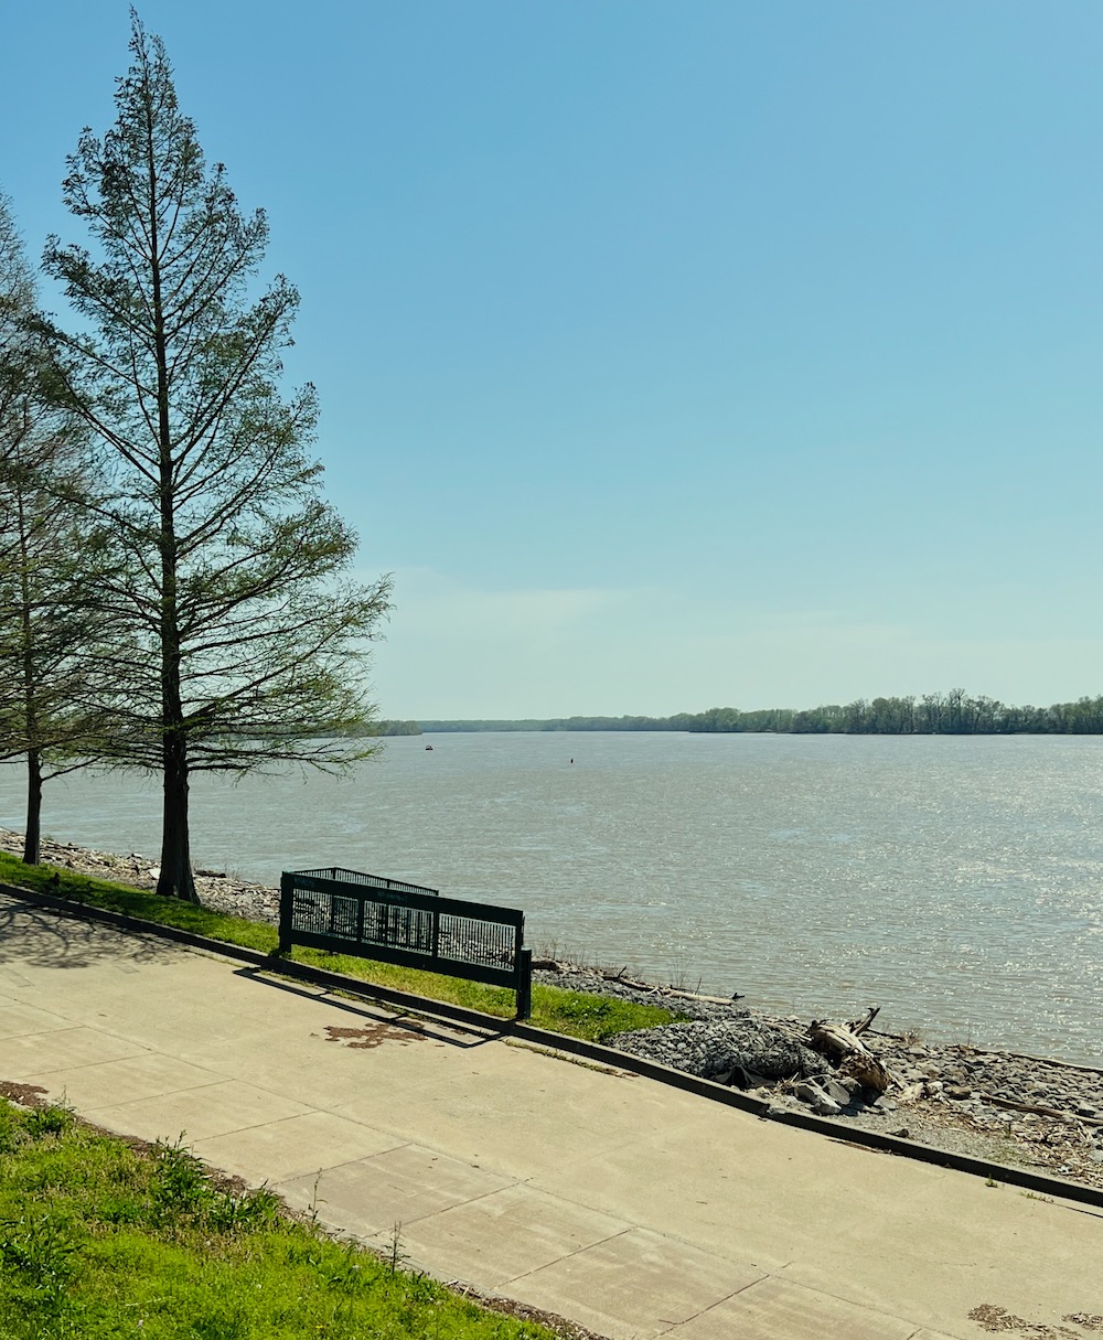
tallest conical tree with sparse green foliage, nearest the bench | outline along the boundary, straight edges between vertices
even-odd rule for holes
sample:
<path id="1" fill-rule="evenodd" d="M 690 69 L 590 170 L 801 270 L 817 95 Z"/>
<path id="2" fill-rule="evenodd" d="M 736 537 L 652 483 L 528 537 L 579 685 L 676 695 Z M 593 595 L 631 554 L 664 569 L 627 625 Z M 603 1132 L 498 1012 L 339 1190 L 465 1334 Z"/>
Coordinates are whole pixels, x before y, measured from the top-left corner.
<path id="1" fill-rule="evenodd" d="M 347 579 L 355 537 L 310 454 L 314 387 L 280 397 L 298 293 L 283 276 L 253 288 L 265 217 L 208 169 L 164 44 L 131 17 L 117 121 L 83 131 L 64 181 L 96 255 L 52 237 L 43 264 L 82 318 L 48 330 L 58 394 L 117 470 L 99 504 L 118 551 L 103 608 L 127 630 L 115 756 L 161 772 L 158 892 L 194 900 L 194 770 L 378 748 L 351 732 L 371 716 L 365 643 L 390 583 Z"/>

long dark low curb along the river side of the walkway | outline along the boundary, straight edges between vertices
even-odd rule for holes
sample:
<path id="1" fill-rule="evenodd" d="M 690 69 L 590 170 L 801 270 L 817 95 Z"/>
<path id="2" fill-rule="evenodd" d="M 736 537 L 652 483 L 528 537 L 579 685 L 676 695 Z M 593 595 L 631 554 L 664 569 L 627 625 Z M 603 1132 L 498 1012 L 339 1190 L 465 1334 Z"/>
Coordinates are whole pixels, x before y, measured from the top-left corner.
<path id="1" fill-rule="evenodd" d="M 815 1116 L 811 1112 L 772 1110 L 769 1103 L 749 1097 L 738 1089 L 726 1088 L 712 1080 L 698 1079 L 696 1075 L 686 1075 L 684 1071 L 671 1069 L 669 1065 L 661 1065 L 658 1061 L 651 1061 L 642 1056 L 631 1056 L 627 1052 L 602 1047 L 599 1043 L 587 1043 L 578 1037 L 549 1033 L 543 1028 L 533 1028 L 531 1024 L 523 1024 L 516 1020 L 501 1020 L 493 1014 L 484 1014 L 481 1010 L 468 1009 L 462 1005 L 449 1005 L 425 996 L 411 996 L 386 986 L 373 986 L 370 982 L 359 981 L 355 977 L 346 977 L 342 973 L 331 973 L 307 963 L 296 963 L 294 959 L 277 958 L 273 954 L 261 954 L 259 950 L 228 945 L 225 941 L 197 935 L 177 926 L 147 922 L 138 917 L 129 917 L 125 913 L 113 913 L 102 907 L 91 907 L 87 903 L 58 898 L 52 894 L 40 894 L 29 888 L 20 888 L 16 884 L 0 883 L 0 894 L 62 917 L 71 917 L 76 921 L 92 921 L 117 930 L 157 935 L 161 939 L 185 945 L 189 949 L 200 949 L 221 958 L 231 958 L 280 977 L 307 982 L 311 986 L 324 986 L 327 990 L 338 990 L 346 996 L 382 1001 L 405 1012 L 465 1024 L 492 1036 L 513 1037 L 536 1047 L 544 1047 L 548 1051 L 567 1052 L 571 1056 L 579 1056 L 599 1065 L 608 1065 L 618 1071 L 641 1075 L 645 1079 L 658 1080 L 661 1084 L 669 1084 L 671 1088 L 678 1088 L 688 1093 L 696 1093 L 698 1097 L 706 1097 L 713 1103 L 724 1103 L 728 1107 L 740 1108 L 763 1120 L 780 1122 L 783 1126 L 815 1131 L 819 1135 L 827 1135 L 834 1140 L 842 1140 L 847 1144 L 859 1144 L 866 1148 L 879 1150 L 883 1154 L 894 1154 L 899 1158 L 930 1163 L 935 1167 L 948 1167 L 958 1172 L 990 1178 L 1005 1186 L 1023 1187 L 1039 1195 L 1060 1197 L 1064 1201 L 1076 1201 L 1082 1205 L 1103 1210 L 1103 1190 L 1098 1187 L 1082 1186 L 1079 1182 L 1067 1182 L 1063 1178 L 1035 1172 L 1029 1168 L 990 1163 L 986 1159 L 977 1159 L 968 1154 L 935 1150 L 929 1144 L 905 1140 L 897 1135 L 881 1135 L 878 1131 L 856 1130 L 848 1127 L 844 1122 L 832 1122 L 827 1118 Z"/>

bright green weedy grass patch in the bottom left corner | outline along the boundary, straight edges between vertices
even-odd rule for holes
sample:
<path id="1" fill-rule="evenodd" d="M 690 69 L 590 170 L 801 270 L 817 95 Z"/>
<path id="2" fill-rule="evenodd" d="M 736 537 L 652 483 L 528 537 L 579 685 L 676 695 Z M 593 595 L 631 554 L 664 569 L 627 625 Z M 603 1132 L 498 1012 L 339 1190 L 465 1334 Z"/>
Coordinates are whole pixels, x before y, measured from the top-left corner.
<path id="1" fill-rule="evenodd" d="M 399 1250 L 395 1253 L 401 1256 Z M 0 1101 L 4 1340 L 551 1340 L 232 1195 L 178 1146 Z"/>

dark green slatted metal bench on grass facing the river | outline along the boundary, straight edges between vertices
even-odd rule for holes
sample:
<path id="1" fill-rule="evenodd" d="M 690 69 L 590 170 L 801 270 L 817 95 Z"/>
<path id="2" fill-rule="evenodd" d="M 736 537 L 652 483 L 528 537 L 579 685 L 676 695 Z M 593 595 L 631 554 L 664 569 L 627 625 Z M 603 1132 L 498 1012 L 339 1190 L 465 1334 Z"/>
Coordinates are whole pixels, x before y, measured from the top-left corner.
<path id="1" fill-rule="evenodd" d="M 532 1013 L 524 913 L 382 875 L 331 866 L 280 876 L 280 953 L 292 945 L 509 986 L 517 1018 Z"/>

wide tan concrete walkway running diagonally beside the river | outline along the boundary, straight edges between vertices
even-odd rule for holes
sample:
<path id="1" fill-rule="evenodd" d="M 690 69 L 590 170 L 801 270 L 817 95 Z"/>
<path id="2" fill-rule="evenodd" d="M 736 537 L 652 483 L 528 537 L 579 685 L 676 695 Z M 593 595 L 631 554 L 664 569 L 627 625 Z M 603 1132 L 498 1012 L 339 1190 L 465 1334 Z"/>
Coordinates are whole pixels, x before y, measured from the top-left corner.
<path id="1" fill-rule="evenodd" d="M 1103 1327 L 1098 1211 L 3 899 L 0 1079 L 617 1340 Z"/>

